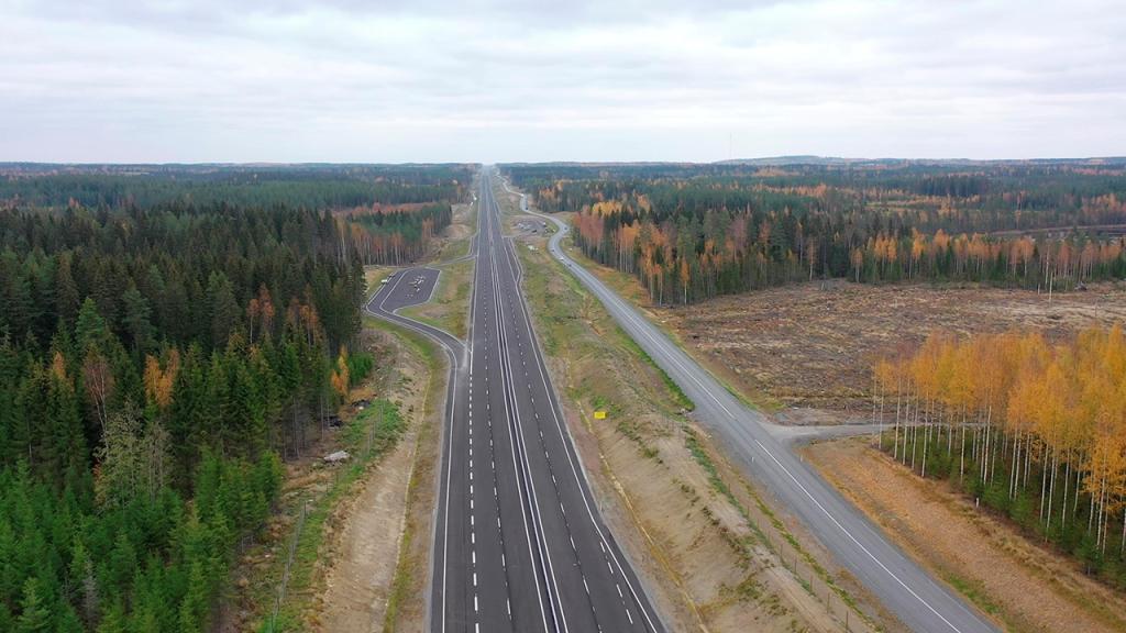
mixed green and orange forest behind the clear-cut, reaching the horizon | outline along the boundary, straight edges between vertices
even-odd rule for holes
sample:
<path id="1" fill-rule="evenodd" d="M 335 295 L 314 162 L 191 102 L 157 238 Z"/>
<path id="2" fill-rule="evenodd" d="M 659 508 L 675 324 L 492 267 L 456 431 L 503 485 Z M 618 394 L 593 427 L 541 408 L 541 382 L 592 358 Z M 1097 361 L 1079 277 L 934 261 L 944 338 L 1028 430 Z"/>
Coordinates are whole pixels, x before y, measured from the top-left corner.
<path id="1" fill-rule="evenodd" d="M 1126 276 L 1126 161 L 512 164 L 654 302 L 803 279 L 1072 288 Z"/>

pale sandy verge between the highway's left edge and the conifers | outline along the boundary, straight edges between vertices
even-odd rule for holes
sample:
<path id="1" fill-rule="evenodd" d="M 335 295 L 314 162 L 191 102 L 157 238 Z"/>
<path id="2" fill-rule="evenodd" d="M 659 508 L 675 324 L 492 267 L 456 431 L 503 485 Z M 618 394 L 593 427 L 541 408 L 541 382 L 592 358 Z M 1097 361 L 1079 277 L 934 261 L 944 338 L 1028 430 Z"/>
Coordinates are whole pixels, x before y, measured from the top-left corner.
<path id="1" fill-rule="evenodd" d="M 387 398 L 401 402 L 401 410 L 415 424 L 337 509 L 334 533 L 325 542 L 324 555 L 332 562 L 320 605 L 322 631 L 383 630 L 418 447 L 417 420 L 425 411 L 429 385 L 428 368 L 415 355 L 401 350 L 394 367 L 400 377 Z"/>

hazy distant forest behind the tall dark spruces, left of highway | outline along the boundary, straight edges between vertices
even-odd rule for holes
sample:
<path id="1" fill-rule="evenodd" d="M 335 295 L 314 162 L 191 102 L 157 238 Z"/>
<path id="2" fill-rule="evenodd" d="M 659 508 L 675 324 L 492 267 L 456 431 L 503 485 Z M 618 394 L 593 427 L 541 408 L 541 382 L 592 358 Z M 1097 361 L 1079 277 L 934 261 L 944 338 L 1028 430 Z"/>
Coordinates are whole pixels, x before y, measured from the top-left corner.
<path id="1" fill-rule="evenodd" d="M 364 264 L 399 265 L 421 257 L 449 225 L 452 205 L 467 197 L 474 169 L 0 163 L 0 209 L 329 211 L 346 235 L 342 249 L 358 252 Z"/>

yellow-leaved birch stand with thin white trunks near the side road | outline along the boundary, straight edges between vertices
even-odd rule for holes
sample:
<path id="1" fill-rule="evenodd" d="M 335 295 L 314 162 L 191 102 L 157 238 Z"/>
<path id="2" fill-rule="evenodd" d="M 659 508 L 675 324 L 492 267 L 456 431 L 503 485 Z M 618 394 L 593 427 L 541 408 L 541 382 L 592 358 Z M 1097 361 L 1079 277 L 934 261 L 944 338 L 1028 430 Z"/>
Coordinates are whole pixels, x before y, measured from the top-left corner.
<path id="1" fill-rule="evenodd" d="M 874 368 L 882 445 L 1126 589 L 1126 337 L 933 335 Z"/>

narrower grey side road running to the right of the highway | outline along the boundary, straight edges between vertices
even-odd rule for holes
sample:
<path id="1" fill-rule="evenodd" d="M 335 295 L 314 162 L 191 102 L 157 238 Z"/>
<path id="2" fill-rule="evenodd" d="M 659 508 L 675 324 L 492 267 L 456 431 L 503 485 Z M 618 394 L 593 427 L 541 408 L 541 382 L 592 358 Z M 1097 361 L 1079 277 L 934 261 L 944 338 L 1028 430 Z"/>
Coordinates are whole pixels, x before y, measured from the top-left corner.
<path id="1" fill-rule="evenodd" d="M 521 200 L 521 208 L 526 208 Z M 768 490 L 833 553 L 860 582 L 912 631 L 971 633 L 997 631 L 978 612 L 931 579 L 887 541 L 837 490 L 769 433 L 766 418 L 732 395 L 706 369 L 636 309 L 560 247 L 569 229 L 558 220 L 549 251 L 597 296 L 617 322 L 696 403 L 695 416 L 756 481 Z"/>

